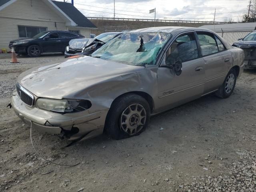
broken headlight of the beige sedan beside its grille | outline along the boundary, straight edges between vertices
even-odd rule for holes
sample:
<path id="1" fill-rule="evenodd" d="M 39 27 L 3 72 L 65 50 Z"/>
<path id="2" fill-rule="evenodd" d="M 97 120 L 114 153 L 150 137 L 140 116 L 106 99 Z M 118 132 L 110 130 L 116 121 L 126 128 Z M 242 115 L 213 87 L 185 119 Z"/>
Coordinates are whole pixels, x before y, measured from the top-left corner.
<path id="1" fill-rule="evenodd" d="M 42 110 L 53 111 L 59 113 L 81 112 L 92 106 L 88 100 L 58 100 L 39 98 L 36 106 Z"/>

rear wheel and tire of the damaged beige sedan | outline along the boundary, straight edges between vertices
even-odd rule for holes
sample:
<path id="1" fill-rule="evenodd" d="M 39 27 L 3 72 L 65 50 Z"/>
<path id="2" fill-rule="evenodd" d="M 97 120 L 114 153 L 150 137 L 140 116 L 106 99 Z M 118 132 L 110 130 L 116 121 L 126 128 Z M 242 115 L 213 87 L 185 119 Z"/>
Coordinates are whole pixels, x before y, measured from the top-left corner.
<path id="1" fill-rule="evenodd" d="M 236 86 L 236 78 L 237 78 L 237 73 L 235 69 L 231 69 L 228 72 L 228 75 L 226 76 L 222 86 L 218 89 L 217 92 L 215 92 L 215 95 L 219 98 L 228 98 L 235 86 Z"/>

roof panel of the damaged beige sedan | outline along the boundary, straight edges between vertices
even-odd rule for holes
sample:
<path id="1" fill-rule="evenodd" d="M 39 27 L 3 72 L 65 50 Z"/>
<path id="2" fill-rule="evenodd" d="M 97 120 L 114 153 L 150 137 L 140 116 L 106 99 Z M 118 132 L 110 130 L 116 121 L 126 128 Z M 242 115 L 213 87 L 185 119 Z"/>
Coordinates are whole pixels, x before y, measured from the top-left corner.
<path id="1" fill-rule="evenodd" d="M 165 33 L 171 33 L 175 30 L 200 30 L 200 31 L 210 31 L 208 29 L 204 28 L 196 28 L 196 27 L 182 27 L 182 26 L 166 26 L 166 27 L 149 27 L 149 28 L 142 28 L 142 29 L 136 29 L 129 31 L 130 33 L 150 33 L 150 32 L 165 32 Z"/>

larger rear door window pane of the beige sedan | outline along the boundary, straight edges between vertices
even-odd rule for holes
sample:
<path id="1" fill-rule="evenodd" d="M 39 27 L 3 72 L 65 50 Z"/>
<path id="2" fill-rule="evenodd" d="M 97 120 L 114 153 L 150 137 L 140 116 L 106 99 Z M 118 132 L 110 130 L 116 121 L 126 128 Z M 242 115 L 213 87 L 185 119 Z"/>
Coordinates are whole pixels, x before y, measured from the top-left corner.
<path id="1" fill-rule="evenodd" d="M 202 50 L 202 56 L 219 52 L 218 45 L 214 35 L 208 33 L 197 32 L 198 40 Z"/>

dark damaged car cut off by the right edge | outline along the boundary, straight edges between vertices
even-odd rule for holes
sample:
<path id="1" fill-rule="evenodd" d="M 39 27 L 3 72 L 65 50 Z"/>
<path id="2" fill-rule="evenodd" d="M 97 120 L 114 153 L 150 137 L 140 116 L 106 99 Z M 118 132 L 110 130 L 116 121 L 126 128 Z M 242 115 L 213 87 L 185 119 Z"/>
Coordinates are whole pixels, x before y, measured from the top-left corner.
<path id="1" fill-rule="evenodd" d="M 256 30 L 244 38 L 239 38 L 232 46 L 244 50 L 245 69 L 256 69 Z"/>

